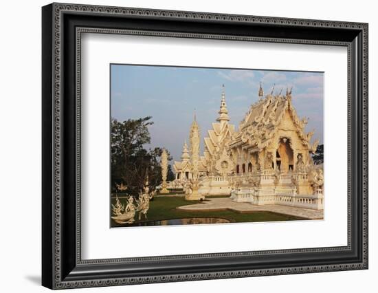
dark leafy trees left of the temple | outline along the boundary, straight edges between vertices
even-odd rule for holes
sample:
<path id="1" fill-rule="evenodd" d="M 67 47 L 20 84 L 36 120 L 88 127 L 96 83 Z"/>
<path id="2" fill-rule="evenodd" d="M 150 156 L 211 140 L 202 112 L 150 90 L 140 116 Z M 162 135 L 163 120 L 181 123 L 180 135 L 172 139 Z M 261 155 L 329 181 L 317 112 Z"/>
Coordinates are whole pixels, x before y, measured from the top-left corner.
<path id="1" fill-rule="evenodd" d="M 123 182 L 127 186 L 127 193 L 135 197 L 143 190 L 147 176 L 151 190 L 162 182 L 160 157 L 163 149 L 144 149 L 144 145 L 151 142 L 148 127 L 152 124 L 149 116 L 124 122 L 111 120 L 112 186 L 115 182 Z M 168 160 L 172 160 L 169 152 Z M 169 176 L 174 177 L 170 168 Z"/>

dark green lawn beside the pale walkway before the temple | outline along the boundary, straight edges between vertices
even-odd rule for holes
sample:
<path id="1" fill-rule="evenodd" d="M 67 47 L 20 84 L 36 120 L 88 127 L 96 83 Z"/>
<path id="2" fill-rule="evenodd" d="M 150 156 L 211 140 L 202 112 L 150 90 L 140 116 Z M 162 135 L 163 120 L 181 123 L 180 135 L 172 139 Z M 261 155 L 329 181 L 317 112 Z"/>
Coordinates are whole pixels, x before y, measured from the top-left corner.
<path id="1" fill-rule="evenodd" d="M 126 198 L 120 198 L 120 202 L 125 204 Z M 163 219 L 181 219 L 190 217 L 218 217 L 228 219 L 232 222 L 252 222 L 252 221 L 291 221 L 302 219 L 290 215 L 281 215 L 271 212 L 254 212 L 254 213 L 236 213 L 231 210 L 220 211 L 185 211 L 177 210 L 177 206 L 186 206 L 188 204 L 196 204 L 197 202 L 186 201 L 184 197 L 155 197 L 150 202 L 150 208 L 147 213 L 148 221 Z M 112 198 L 112 204 L 115 204 L 115 198 Z M 142 218 L 144 219 L 144 218 Z M 135 215 L 137 220 L 137 215 Z M 135 221 L 137 223 L 137 221 Z M 120 225 L 112 220 L 112 227 L 128 226 Z"/>

